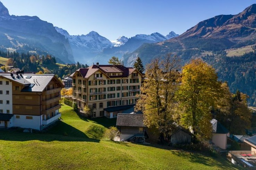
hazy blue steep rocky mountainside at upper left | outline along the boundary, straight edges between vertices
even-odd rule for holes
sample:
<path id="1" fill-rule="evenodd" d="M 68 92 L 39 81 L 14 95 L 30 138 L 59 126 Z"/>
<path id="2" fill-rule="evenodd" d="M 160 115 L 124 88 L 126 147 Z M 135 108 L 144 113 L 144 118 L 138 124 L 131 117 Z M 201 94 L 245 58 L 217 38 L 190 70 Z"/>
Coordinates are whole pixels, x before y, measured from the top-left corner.
<path id="1" fill-rule="evenodd" d="M 0 44 L 2 49 L 48 53 L 64 63 L 75 63 L 69 41 L 52 23 L 33 16 L 10 16 L 0 2 Z"/>

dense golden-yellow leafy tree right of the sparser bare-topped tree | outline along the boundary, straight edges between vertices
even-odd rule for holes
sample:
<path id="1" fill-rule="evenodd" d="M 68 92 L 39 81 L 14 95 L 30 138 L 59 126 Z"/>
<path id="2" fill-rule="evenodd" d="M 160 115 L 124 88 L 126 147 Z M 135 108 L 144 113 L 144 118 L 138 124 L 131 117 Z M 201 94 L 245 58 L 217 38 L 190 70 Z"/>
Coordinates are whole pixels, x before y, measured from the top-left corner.
<path id="1" fill-rule="evenodd" d="M 181 123 L 191 128 L 197 139 L 211 138 L 211 109 L 221 94 L 221 83 L 217 81 L 215 69 L 194 59 L 183 67 L 182 81 L 177 99 L 182 109 Z"/>

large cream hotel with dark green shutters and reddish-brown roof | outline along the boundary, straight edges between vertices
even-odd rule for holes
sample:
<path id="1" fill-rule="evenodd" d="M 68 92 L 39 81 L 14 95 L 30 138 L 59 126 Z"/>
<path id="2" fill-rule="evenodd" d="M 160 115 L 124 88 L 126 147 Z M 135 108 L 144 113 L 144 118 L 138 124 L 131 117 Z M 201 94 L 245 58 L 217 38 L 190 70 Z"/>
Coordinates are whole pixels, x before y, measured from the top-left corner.
<path id="1" fill-rule="evenodd" d="M 93 117 L 112 118 L 134 106 L 138 100 L 136 94 L 140 94 L 142 74 L 131 67 L 97 63 L 79 68 L 70 77 L 73 78 L 72 98 L 80 110 L 85 105 L 92 105 Z"/>

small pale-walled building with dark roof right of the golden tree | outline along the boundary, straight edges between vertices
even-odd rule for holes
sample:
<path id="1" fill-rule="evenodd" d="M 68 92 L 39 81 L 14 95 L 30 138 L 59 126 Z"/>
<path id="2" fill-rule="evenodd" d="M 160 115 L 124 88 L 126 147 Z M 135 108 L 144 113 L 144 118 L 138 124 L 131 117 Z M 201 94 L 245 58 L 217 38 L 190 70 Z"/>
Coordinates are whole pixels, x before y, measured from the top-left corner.
<path id="1" fill-rule="evenodd" d="M 227 139 L 229 131 L 216 119 L 211 120 L 212 142 L 221 149 L 227 149 Z"/>

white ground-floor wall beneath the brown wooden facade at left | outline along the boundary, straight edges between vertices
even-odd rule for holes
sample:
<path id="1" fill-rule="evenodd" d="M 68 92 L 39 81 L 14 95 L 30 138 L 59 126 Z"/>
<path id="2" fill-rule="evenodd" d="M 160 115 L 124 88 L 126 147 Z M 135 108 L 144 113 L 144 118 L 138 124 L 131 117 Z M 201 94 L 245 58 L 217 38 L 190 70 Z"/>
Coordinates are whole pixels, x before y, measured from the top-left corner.
<path id="1" fill-rule="evenodd" d="M 31 115 L 18 115 L 19 118 L 14 115 L 13 119 L 13 126 L 20 127 L 20 128 L 30 128 L 40 130 L 40 116 L 32 116 L 33 119 L 26 119 L 26 116 Z M 41 125 L 42 125 L 42 115 L 41 115 Z"/>

